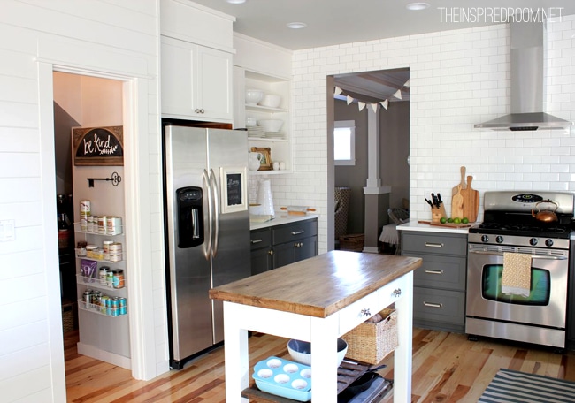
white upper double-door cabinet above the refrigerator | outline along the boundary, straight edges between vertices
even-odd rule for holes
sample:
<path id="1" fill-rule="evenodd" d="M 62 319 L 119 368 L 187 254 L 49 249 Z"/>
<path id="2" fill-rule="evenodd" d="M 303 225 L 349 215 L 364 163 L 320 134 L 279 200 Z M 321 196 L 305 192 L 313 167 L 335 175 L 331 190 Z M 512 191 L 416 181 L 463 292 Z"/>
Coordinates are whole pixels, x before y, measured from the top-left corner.
<path id="1" fill-rule="evenodd" d="M 188 0 L 161 0 L 164 118 L 232 123 L 234 17 Z"/>

